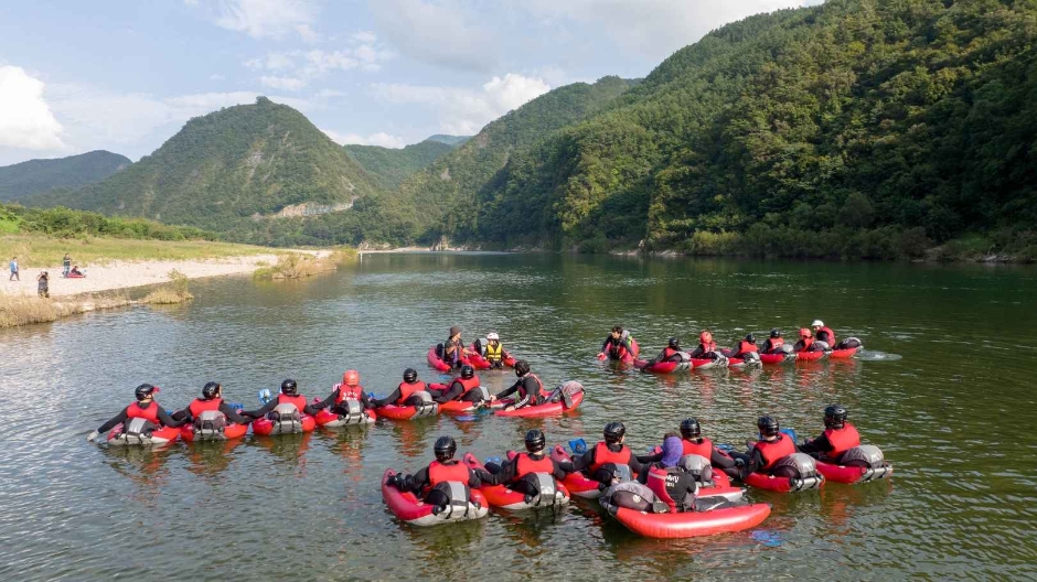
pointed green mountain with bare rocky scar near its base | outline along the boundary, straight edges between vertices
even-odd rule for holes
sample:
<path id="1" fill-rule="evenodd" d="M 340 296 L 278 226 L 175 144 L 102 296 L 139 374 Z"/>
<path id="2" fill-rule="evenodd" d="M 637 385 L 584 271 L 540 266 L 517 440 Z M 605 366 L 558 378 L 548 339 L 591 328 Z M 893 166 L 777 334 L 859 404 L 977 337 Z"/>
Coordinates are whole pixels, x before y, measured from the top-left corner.
<path id="1" fill-rule="evenodd" d="M 275 217 L 342 211 L 376 192 L 367 173 L 302 114 L 259 97 L 191 119 L 154 153 L 104 182 L 26 202 L 264 241 L 253 233 Z"/>

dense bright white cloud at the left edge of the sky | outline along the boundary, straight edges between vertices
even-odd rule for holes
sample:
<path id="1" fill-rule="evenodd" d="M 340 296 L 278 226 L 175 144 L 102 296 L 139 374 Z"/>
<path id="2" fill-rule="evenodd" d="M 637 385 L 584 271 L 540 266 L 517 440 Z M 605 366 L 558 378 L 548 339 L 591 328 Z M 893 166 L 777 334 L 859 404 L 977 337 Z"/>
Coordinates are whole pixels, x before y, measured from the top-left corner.
<path id="1" fill-rule="evenodd" d="M 43 99 L 43 82 L 17 66 L 0 66 L 0 147 L 65 148 L 62 125 Z"/>

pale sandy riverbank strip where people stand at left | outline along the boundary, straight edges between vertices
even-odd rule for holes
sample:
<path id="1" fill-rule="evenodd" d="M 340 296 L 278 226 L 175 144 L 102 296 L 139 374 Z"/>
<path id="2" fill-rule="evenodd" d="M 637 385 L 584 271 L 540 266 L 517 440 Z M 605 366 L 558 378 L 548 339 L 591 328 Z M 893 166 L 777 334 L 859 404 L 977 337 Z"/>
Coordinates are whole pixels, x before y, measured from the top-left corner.
<path id="1" fill-rule="evenodd" d="M 329 251 L 299 251 L 324 256 Z M 189 279 L 206 277 L 226 277 L 232 274 L 252 274 L 256 269 L 277 262 L 278 256 L 253 255 L 248 257 L 226 257 L 220 259 L 178 260 L 178 261 L 111 261 L 103 265 L 81 266 L 86 272 L 84 279 L 65 279 L 60 265 L 49 268 L 21 269 L 21 281 L 9 281 L 10 271 L 3 269 L 0 277 L 0 293 L 36 294 L 36 276 L 47 271 L 51 277 L 51 297 L 78 295 L 114 291 L 131 287 L 142 287 L 169 282 L 169 272 L 173 269 Z"/>

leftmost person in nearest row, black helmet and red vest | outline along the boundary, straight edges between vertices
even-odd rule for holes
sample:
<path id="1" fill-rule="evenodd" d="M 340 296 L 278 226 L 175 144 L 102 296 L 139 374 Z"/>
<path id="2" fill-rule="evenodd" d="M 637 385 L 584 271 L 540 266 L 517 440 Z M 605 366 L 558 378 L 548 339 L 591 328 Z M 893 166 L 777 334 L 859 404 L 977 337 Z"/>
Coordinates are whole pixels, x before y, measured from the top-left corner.
<path id="1" fill-rule="evenodd" d="M 468 465 L 453 459 L 457 450 L 458 443 L 452 436 L 440 436 L 434 446 L 435 461 L 414 475 L 393 475 L 387 484 L 402 492 L 424 495 L 425 503 L 436 506 L 435 515 L 451 503 L 467 505 L 471 488 L 482 485 L 482 479 Z"/>

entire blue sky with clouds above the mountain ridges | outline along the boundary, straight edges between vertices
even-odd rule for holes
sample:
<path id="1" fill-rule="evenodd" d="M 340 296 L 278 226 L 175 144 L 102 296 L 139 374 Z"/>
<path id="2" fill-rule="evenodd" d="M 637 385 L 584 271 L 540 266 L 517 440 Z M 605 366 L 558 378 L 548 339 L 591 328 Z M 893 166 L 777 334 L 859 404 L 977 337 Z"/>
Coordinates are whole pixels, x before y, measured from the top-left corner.
<path id="1" fill-rule="evenodd" d="M 819 0 L 103 0 L 0 14 L 0 165 L 135 161 L 267 95 L 340 143 L 475 133 L 568 83 L 643 77 L 706 32 Z"/>

